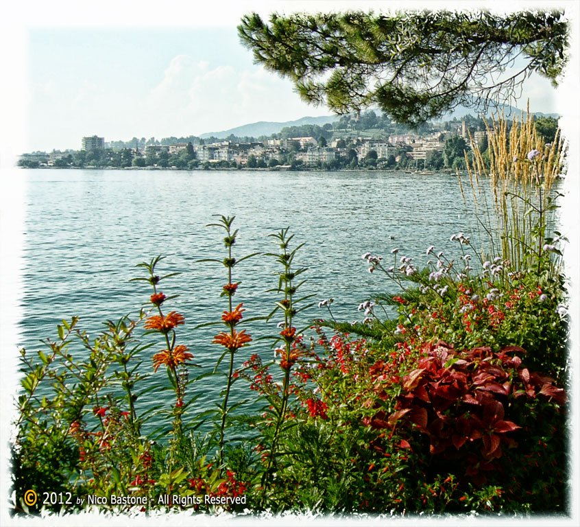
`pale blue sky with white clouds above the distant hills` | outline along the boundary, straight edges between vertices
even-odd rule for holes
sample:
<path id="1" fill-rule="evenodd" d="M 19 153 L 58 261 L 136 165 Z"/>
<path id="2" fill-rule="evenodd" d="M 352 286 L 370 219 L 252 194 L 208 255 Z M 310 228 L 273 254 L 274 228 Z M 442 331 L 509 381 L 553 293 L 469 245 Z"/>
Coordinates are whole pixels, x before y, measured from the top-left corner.
<path id="1" fill-rule="evenodd" d="M 79 149 L 81 138 L 93 134 L 106 141 L 162 139 L 330 115 L 324 106 L 303 102 L 290 80 L 253 63 L 237 36 L 242 14 L 397 6 L 389 1 L 255 0 L 47 4 L 48 9 L 40 4 L 40 11 L 21 9 L 16 16 L 21 17 L 23 51 L 20 144 L 26 152 Z M 548 80 L 530 78 L 522 106 L 528 97 L 533 111 L 557 113 L 557 94 Z"/>

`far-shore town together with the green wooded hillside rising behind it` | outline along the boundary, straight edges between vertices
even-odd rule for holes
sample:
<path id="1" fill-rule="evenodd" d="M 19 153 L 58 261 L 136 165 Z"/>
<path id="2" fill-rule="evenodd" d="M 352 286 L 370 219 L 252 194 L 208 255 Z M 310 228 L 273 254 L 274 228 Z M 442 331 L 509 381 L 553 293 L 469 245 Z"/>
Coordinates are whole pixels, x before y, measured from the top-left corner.
<path id="1" fill-rule="evenodd" d="M 552 141 L 557 119 L 534 116 L 545 141 Z M 80 150 L 23 154 L 21 167 L 53 168 L 270 168 L 270 169 L 463 169 L 465 154 L 479 148 L 485 159 L 488 124 L 466 115 L 411 130 L 368 110 L 324 126 L 282 128 L 270 137 L 144 137 L 111 141 L 82 138 Z"/>

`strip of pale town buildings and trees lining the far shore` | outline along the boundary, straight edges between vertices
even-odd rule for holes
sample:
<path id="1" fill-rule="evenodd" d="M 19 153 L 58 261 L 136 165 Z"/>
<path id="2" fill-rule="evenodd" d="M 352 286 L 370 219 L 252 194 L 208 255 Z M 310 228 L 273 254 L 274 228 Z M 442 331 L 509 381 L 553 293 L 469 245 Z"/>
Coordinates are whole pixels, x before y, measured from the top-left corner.
<path id="1" fill-rule="evenodd" d="M 479 129 L 478 129 L 479 128 Z M 337 132 L 338 130 L 335 130 Z M 354 133 L 353 133 L 354 132 Z M 481 124 L 468 127 L 466 119 L 448 121 L 431 127 L 429 132 L 406 132 L 376 134 L 351 130 L 335 137 L 322 135 L 311 137 L 270 138 L 263 141 L 221 140 L 212 143 L 204 139 L 191 141 L 159 141 L 141 143 L 134 139 L 135 146 L 105 143 L 97 135 L 82 138 L 82 150 L 86 155 L 78 156 L 73 150 L 50 154 L 35 152 L 24 154 L 21 166 L 123 166 L 123 167 L 393 167 L 395 163 L 412 162 L 415 167 L 427 167 L 442 159 L 445 142 L 450 137 L 464 137 L 467 148 L 485 149 L 490 132 L 481 130 Z M 305 134 L 306 135 L 306 134 Z M 176 138 L 170 138 L 176 139 Z M 139 148 L 141 145 L 141 148 Z M 112 148 L 110 148 L 112 147 Z"/>

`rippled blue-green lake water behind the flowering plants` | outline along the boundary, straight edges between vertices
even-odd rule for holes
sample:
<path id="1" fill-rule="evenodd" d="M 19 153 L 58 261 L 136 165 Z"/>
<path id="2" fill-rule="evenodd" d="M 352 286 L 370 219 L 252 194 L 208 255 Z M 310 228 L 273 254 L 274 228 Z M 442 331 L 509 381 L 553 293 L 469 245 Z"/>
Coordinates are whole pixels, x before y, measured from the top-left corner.
<path id="1" fill-rule="evenodd" d="M 210 343 L 217 327 L 193 327 L 219 320 L 226 309 L 226 299 L 219 297 L 225 268 L 196 263 L 226 255 L 223 231 L 206 227 L 216 214 L 236 216 L 237 258 L 275 251 L 268 235 L 290 226 L 295 243 L 305 244 L 295 258 L 297 266 L 309 268 L 302 293 L 314 294 L 316 303 L 333 296 L 335 316 L 343 320 L 360 320 L 357 306 L 374 294 L 395 292 L 384 276 L 367 272 L 363 253 L 389 259 L 399 248 L 398 257 L 424 264 L 431 244 L 457 253 L 449 237 L 468 233 L 471 224 L 457 177 L 446 174 L 56 169 L 18 174 L 27 180 L 21 345 L 31 351 L 41 347 L 40 339 L 56 338 L 62 318 L 80 316 L 82 327 L 94 334 L 104 320 L 136 315 L 151 290 L 129 281 L 143 275 L 135 265 L 164 255 L 159 274 L 182 273 L 160 288 L 180 295 L 166 307 L 185 316 L 178 342 L 190 347 L 195 362 L 213 366 L 221 350 Z M 277 285 L 278 270 L 266 256 L 234 268 L 234 280 L 242 282 L 234 300 L 243 301 L 246 317 L 273 309 L 277 297 L 265 291 Z M 327 314 L 315 305 L 302 322 Z M 275 333 L 277 322 L 248 331 Z M 148 355 L 154 350 L 145 352 L 143 363 L 151 373 Z M 255 342 L 239 351 L 239 364 L 252 352 L 272 353 L 266 341 Z M 158 373 L 148 382 L 166 379 Z M 199 408 L 215 400 L 219 389 L 219 383 L 205 385 Z M 149 395 L 139 403 L 158 400 L 158 394 Z"/>

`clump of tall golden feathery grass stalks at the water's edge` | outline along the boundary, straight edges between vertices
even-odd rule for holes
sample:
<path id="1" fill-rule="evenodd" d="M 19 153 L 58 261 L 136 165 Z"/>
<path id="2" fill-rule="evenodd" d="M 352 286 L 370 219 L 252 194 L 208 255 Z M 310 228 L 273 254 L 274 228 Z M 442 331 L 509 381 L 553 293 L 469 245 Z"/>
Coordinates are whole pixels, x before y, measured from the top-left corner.
<path id="1" fill-rule="evenodd" d="M 483 229 L 481 258 L 501 255 L 514 270 L 531 268 L 542 256 L 546 235 L 555 228 L 555 182 L 561 174 L 564 140 L 558 130 L 555 140 L 545 143 L 529 108 L 511 126 L 504 115 L 492 117 L 485 126 L 488 160 L 471 138 L 473 156 L 466 152 L 469 196 L 461 186 L 464 202 L 472 201 Z"/>

